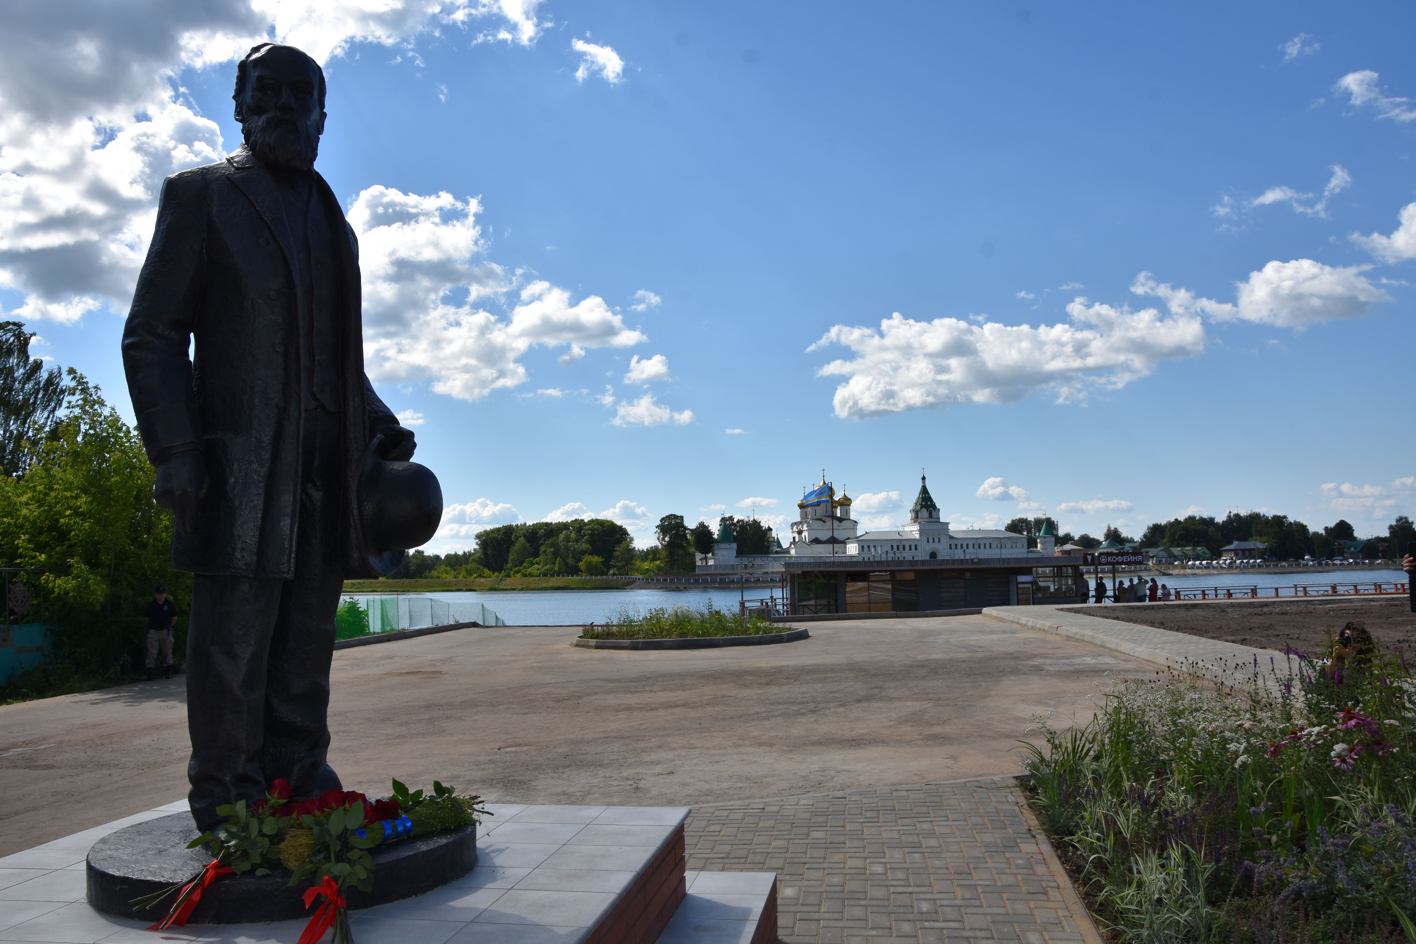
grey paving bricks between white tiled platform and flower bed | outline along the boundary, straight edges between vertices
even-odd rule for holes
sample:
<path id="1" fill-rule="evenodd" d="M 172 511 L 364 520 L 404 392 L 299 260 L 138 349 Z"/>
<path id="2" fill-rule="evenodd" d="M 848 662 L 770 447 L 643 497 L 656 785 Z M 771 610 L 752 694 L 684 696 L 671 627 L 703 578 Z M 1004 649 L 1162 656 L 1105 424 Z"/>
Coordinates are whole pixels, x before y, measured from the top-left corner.
<path id="1" fill-rule="evenodd" d="M 997 777 L 694 807 L 685 853 L 777 872 L 789 944 L 1100 944 L 1020 798 Z"/>

